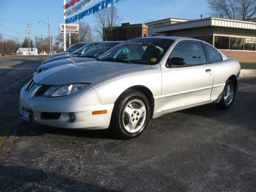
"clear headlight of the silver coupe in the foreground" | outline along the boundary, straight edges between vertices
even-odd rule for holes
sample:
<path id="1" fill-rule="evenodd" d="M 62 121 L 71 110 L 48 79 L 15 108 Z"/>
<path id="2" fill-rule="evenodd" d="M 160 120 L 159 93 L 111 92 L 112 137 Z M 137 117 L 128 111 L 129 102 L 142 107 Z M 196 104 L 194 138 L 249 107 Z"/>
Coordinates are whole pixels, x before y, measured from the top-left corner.
<path id="1" fill-rule="evenodd" d="M 65 84 L 62 86 L 53 85 L 42 96 L 44 97 L 61 97 L 66 95 L 71 95 L 80 90 L 83 90 L 87 84 L 76 83 L 76 84 Z"/>

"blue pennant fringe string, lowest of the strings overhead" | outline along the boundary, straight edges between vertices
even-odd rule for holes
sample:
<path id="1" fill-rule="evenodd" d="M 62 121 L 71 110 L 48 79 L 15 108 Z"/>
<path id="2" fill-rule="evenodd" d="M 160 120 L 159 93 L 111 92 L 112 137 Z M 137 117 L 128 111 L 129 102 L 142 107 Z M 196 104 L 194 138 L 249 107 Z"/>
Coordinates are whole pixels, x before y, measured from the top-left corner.
<path id="1" fill-rule="evenodd" d="M 74 17 L 70 17 L 70 18 L 66 19 L 65 23 L 68 24 L 68 23 L 75 22 L 76 20 L 81 20 L 85 16 L 89 16 L 89 15 L 97 13 L 101 10 L 104 10 L 105 8 L 108 8 L 109 6 L 112 6 L 113 4 L 118 3 L 119 1 L 122 1 L 122 0 L 104 0 L 104 1 L 101 1 L 100 3 L 96 4 L 95 6 L 92 6 L 92 8 L 89 8 L 88 10 L 85 10 L 84 12 L 75 15 Z"/>

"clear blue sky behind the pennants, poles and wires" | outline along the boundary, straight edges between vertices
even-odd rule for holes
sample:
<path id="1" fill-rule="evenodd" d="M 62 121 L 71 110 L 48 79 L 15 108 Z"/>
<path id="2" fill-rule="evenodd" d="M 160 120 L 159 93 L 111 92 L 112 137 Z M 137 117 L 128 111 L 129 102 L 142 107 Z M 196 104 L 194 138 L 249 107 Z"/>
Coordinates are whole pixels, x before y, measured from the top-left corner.
<path id="1" fill-rule="evenodd" d="M 66 0 L 66 4 L 70 1 Z M 94 1 L 83 10 L 67 16 L 67 19 L 100 1 L 102 0 Z M 81 2 L 83 0 L 79 3 Z M 145 23 L 149 19 L 200 19 L 202 14 L 204 17 L 211 16 L 205 0 L 122 0 L 115 6 L 121 20 L 119 26 L 125 22 Z M 63 0 L 0 0 L 0 34 L 4 40 L 12 39 L 22 43 L 25 36 L 28 38 L 28 24 L 31 40 L 36 36 L 49 36 L 48 17 L 51 36 L 56 36 L 60 33 L 60 24 L 63 23 Z M 97 24 L 94 15 L 86 16 L 81 21 L 90 24 L 92 28 Z"/>

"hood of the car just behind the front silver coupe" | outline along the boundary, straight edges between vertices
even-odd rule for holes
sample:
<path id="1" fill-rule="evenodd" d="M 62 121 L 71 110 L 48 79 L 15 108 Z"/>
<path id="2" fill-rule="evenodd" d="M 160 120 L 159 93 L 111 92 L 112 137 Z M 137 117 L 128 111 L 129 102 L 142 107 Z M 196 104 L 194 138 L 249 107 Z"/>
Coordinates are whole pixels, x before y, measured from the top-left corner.
<path id="1" fill-rule="evenodd" d="M 48 68 L 56 67 L 59 65 L 81 63 L 84 61 L 92 61 L 92 60 L 94 60 L 94 58 L 68 58 L 68 59 L 64 59 L 64 60 L 56 60 L 56 61 L 51 61 L 49 63 L 45 63 L 45 64 L 41 65 L 40 68 L 48 69 Z"/>

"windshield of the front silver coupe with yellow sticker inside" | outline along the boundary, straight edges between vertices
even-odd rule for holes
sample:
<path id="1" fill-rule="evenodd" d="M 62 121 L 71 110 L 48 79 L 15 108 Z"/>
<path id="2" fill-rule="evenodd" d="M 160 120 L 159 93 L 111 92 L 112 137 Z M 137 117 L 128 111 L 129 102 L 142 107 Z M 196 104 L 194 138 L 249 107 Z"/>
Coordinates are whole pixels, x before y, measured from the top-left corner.
<path id="1" fill-rule="evenodd" d="M 128 40 L 99 56 L 99 60 L 154 65 L 172 43 L 173 40 L 157 38 Z"/>

